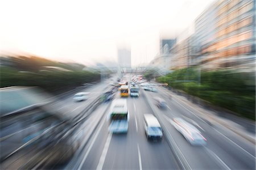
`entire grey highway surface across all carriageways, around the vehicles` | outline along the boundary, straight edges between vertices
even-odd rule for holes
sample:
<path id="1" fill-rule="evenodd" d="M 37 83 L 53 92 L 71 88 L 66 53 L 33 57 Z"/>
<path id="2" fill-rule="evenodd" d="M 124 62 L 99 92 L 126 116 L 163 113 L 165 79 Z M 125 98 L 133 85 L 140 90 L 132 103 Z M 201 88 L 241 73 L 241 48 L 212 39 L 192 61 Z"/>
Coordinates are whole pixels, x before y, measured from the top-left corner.
<path id="1" fill-rule="evenodd" d="M 98 105 L 80 125 L 80 148 L 65 165 L 57 169 L 255 169 L 255 145 L 221 124 L 209 121 L 204 109 L 165 88 L 157 92 L 141 89 L 140 96 L 127 97 L 130 113 L 127 134 L 108 131 L 106 116 L 110 103 Z M 89 99 L 74 102 L 73 95 L 52 104 L 67 117 L 75 117 L 106 89 L 106 82 L 86 88 Z M 167 101 L 167 109 L 159 109 L 154 97 Z M 115 99 L 120 98 L 119 92 Z M 152 113 L 159 119 L 162 141 L 148 141 L 143 128 L 143 114 Z M 191 146 L 172 125 L 174 117 L 194 125 L 207 138 L 206 146 Z M 210 123 L 212 122 L 212 123 Z M 214 122 L 214 123 L 213 123 Z M 171 140 L 170 140 L 171 139 Z M 182 164 L 181 164 L 182 163 Z"/>

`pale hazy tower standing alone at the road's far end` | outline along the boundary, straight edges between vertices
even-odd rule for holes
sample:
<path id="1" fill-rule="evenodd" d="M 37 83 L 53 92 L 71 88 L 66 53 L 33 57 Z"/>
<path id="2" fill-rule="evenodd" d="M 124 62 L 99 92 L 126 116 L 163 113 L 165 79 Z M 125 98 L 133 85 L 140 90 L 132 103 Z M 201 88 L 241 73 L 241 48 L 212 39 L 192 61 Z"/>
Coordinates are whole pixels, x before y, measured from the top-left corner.
<path id="1" fill-rule="evenodd" d="M 118 49 L 118 66 L 119 67 L 131 67 L 131 50 Z"/>

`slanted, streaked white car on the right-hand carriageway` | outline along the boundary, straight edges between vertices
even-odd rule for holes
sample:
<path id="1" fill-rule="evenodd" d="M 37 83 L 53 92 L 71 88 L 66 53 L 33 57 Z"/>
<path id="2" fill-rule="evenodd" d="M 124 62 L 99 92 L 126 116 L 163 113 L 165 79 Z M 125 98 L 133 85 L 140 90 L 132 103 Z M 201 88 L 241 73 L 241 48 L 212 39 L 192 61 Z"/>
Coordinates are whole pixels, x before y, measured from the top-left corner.
<path id="1" fill-rule="evenodd" d="M 203 137 L 195 126 L 189 124 L 182 118 L 174 118 L 174 127 L 179 131 L 191 145 L 206 145 L 207 139 Z"/>

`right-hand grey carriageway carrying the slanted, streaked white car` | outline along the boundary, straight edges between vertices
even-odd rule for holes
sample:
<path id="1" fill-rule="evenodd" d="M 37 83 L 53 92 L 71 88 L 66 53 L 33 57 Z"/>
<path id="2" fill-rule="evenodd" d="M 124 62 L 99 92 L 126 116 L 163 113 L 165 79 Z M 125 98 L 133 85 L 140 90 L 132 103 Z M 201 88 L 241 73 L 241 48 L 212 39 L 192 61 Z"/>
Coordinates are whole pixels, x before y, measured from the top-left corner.
<path id="1" fill-rule="evenodd" d="M 161 87 L 158 92 L 144 91 L 156 114 L 168 129 L 165 133 L 174 139 L 191 169 L 255 169 L 255 145 L 219 124 L 209 124 L 201 118 L 202 113 L 193 104 L 188 105 L 188 102 L 181 100 L 176 94 L 170 96 L 168 93 L 170 92 Z M 155 96 L 167 101 L 166 110 L 154 105 Z M 207 138 L 207 146 L 191 146 L 172 126 L 174 117 L 183 118 L 196 126 Z"/>

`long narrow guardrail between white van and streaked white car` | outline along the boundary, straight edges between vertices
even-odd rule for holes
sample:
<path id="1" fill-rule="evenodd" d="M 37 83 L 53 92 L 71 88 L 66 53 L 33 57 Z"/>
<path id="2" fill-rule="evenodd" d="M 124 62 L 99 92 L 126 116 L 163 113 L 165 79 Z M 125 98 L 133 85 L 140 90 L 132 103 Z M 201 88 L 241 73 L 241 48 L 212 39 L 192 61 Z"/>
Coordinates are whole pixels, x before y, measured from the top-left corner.
<path id="1" fill-rule="evenodd" d="M 166 128 L 166 125 L 164 124 L 162 118 L 159 116 L 158 112 L 155 111 L 155 108 L 152 107 L 152 103 L 150 100 L 148 100 L 148 97 L 146 96 L 146 93 L 144 92 L 144 90 L 142 90 L 142 94 L 143 94 L 143 97 L 145 98 L 146 103 L 148 104 L 148 106 L 150 107 L 152 112 L 154 113 L 155 117 L 158 118 L 158 121 L 160 122 L 162 129 L 163 129 L 164 137 L 166 137 L 166 139 L 167 139 L 166 141 L 167 141 L 168 145 L 170 146 L 171 150 L 174 151 L 175 157 L 180 164 L 180 168 L 181 169 L 191 169 L 187 160 L 184 158 L 184 155 L 181 153 L 181 151 L 179 150 L 179 147 L 176 145 L 174 139 L 170 135 L 170 131 L 168 131 L 168 128 Z M 166 132 L 168 132 L 168 133 L 166 133 Z"/>

